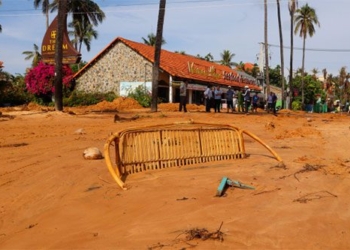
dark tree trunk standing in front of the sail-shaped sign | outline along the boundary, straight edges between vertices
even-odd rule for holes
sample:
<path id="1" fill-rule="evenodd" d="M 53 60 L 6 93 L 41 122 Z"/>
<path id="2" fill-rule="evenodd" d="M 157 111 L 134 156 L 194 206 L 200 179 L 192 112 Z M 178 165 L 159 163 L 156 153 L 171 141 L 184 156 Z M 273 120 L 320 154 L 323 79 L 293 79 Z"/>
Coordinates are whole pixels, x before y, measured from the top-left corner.
<path id="1" fill-rule="evenodd" d="M 55 109 L 63 110 L 63 84 L 62 84 L 62 59 L 63 59 L 63 30 L 66 25 L 67 0 L 58 2 L 57 32 L 55 46 Z"/>

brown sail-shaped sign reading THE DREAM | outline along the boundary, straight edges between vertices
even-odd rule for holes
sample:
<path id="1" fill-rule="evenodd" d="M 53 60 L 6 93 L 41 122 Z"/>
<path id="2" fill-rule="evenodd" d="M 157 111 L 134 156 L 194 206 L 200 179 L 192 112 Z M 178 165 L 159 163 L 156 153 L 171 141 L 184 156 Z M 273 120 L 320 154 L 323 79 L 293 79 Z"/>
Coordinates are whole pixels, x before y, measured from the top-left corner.
<path id="1" fill-rule="evenodd" d="M 55 64 L 55 51 L 56 51 L 56 33 L 57 33 L 58 20 L 57 16 L 46 30 L 43 42 L 41 44 L 41 56 L 42 61 L 48 64 Z M 67 32 L 67 15 L 63 25 L 63 64 L 78 63 L 81 59 L 81 54 L 74 48 L 69 40 Z"/>

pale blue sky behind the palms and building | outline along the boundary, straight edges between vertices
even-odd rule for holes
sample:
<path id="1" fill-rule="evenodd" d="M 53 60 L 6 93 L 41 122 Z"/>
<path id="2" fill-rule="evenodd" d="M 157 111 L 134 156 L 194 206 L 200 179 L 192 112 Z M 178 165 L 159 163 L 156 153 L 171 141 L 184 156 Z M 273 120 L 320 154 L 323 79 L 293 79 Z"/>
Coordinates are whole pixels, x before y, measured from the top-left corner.
<path id="1" fill-rule="evenodd" d="M 156 33 L 158 0 L 95 0 L 106 14 L 106 19 L 95 29 L 97 40 L 91 50 L 82 50 L 82 60 L 89 61 L 116 37 L 142 42 L 151 32 Z M 290 46 L 290 17 L 288 0 L 280 0 L 284 46 Z M 220 60 L 223 50 L 234 53 L 234 62 L 258 63 L 260 43 L 264 41 L 263 0 L 167 0 L 162 49 L 185 51 L 191 55 L 211 53 Z M 350 55 L 350 24 L 346 21 L 349 0 L 300 1 L 299 7 L 309 4 L 316 10 L 320 27 L 306 40 L 305 70 L 316 68 L 321 75 L 324 68 L 338 75 L 341 67 L 348 69 Z M 50 22 L 57 13 L 52 13 Z M 268 0 L 268 43 L 270 67 L 280 64 L 277 7 Z M 45 16 L 35 10 L 32 0 L 2 0 L 0 6 L 0 60 L 4 71 L 24 74 L 30 61 L 23 51 L 39 47 L 45 34 Z M 276 45 L 276 46 L 275 46 Z M 294 69 L 302 64 L 302 39 L 294 37 Z M 289 68 L 289 48 L 284 49 L 285 72 Z"/>

